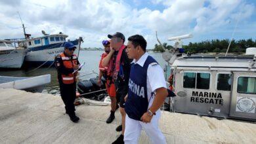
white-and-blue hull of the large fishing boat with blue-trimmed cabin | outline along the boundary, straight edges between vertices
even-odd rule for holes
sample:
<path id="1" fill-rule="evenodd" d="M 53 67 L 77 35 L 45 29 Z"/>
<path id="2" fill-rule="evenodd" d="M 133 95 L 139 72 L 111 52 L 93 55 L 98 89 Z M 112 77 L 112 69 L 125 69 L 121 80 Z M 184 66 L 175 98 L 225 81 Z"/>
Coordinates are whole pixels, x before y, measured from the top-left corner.
<path id="1" fill-rule="evenodd" d="M 74 54 L 78 54 L 79 42 L 77 40 L 71 42 L 77 47 Z M 47 46 L 37 46 L 30 48 L 28 54 L 26 55 L 25 62 L 29 65 L 53 65 L 54 58 L 62 52 L 64 52 L 63 43 L 56 43 Z"/>

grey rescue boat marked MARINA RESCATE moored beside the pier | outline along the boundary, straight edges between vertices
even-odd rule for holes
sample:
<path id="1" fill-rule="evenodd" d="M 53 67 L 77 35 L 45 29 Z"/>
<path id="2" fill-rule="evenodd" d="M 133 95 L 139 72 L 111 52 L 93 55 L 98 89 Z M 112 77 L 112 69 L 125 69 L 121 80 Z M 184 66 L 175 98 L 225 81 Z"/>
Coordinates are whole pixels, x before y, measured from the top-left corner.
<path id="1" fill-rule="evenodd" d="M 256 48 L 241 56 L 188 56 L 181 39 L 189 37 L 169 39 L 175 46 L 163 53 L 177 94 L 171 111 L 256 121 Z"/>

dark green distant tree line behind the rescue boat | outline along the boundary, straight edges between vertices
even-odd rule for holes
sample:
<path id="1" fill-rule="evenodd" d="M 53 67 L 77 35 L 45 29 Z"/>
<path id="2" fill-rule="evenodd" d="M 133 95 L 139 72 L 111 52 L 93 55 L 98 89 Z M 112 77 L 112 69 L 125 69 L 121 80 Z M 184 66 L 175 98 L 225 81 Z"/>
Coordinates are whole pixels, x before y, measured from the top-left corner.
<path id="1" fill-rule="evenodd" d="M 226 52 L 228 48 L 229 40 L 228 39 L 213 39 L 211 41 L 202 41 L 200 43 L 189 43 L 188 45 L 182 46 L 185 49 L 185 52 L 194 53 L 207 53 L 207 52 Z M 173 46 L 163 43 L 163 46 L 167 49 L 172 48 Z M 242 53 L 245 52 L 246 48 L 256 47 L 256 40 L 253 39 L 242 39 L 239 41 L 231 41 L 230 48 L 228 52 L 233 53 Z M 163 48 L 160 45 L 155 45 L 154 51 L 164 52 Z"/>

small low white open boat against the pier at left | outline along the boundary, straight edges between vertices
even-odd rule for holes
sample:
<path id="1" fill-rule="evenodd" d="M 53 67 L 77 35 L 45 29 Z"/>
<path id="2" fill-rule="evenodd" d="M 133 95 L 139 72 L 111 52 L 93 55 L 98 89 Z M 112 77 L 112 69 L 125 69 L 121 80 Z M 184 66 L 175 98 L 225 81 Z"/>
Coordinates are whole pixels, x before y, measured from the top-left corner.
<path id="1" fill-rule="evenodd" d="M 42 92 L 45 84 L 51 82 L 51 75 L 37 77 L 5 77 L 0 76 L 0 88 L 14 88 L 28 92 Z"/>

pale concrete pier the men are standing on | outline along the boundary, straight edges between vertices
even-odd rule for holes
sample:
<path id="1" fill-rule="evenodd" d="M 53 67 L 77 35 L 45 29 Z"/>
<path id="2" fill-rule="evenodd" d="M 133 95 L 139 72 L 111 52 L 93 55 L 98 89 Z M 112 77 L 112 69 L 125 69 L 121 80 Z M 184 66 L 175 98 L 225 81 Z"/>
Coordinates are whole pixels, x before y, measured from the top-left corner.
<path id="1" fill-rule="evenodd" d="M 79 105 L 80 121 L 64 115 L 59 96 L 0 89 L 0 143 L 112 143 L 120 134 L 110 106 Z M 167 143 L 256 143 L 256 124 L 164 112 L 160 128 Z M 150 143 L 142 132 L 139 143 Z"/>

